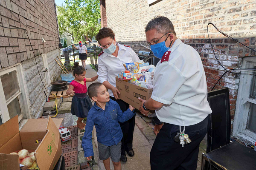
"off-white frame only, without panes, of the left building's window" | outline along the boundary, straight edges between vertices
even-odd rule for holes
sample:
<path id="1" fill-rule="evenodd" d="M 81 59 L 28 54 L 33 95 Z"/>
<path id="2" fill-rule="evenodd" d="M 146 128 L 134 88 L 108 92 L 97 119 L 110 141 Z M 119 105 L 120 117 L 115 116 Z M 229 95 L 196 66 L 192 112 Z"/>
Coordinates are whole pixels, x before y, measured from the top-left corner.
<path id="1" fill-rule="evenodd" d="M 26 91 L 25 88 L 25 77 L 24 77 L 24 72 L 23 72 L 23 68 L 22 65 L 20 63 L 3 68 L 2 70 L 0 70 L 0 76 L 6 73 L 9 73 L 11 71 L 16 71 L 17 72 L 17 79 L 18 79 L 18 85 L 20 87 L 20 91 L 17 92 L 16 94 L 14 94 L 11 98 L 15 99 L 18 96 L 19 102 L 20 102 L 20 110 L 21 110 L 21 115 L 19 116 L 19 121 L 22 118 L 31 118 L 30 116 L 30 109 L 29 109 L 29 99 L 28 99 L 28 93 Z M 8 108 L 7 105 L 12 101 L 12 100 L 8 100 L 6 101 L 5 99 L 5 95 L 3 92 L 3 85 L 2 85 L 2 81 L 0 79 L 0 101 L 1 101 L 1 105 L 0 105 L 0 116 L 2 118 L 3 123 L 8 121 L 10 119 L 9 113 L 8 113 Z M 20 94 L 21 97 L 19 96 Z"/>

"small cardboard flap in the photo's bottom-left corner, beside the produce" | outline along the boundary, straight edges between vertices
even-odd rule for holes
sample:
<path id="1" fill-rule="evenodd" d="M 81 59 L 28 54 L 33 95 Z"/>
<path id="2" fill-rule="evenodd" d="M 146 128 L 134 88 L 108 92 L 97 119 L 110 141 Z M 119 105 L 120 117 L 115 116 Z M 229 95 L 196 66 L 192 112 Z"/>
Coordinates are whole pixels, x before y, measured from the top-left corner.
<path id="1" fill-rule="evenodd" d="M 20 159 L 18 155 L 0 153 L 1 170 L 19 170 Z"/>

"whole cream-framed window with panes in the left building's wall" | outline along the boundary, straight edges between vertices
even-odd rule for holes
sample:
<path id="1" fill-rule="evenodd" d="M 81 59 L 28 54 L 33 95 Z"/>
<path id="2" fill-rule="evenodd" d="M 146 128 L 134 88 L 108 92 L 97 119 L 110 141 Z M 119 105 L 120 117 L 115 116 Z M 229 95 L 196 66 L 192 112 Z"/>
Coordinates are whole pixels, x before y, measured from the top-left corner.
<path id="1" fill-rule="evenodd" d="M 29 117 L 21 64 L 0 71 L 0 116 L 4 123 L 14 116 Z M 0 122 L 0 123 L 1 123 Z"/>

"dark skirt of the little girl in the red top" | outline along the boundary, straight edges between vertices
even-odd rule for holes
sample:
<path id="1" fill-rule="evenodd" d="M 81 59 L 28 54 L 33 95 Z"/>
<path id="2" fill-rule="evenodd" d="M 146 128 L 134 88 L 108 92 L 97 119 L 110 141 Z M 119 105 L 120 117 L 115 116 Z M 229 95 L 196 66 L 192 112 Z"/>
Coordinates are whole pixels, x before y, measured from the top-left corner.
<path id="1" fill-rule="evenodd" d="M 85 118 L 90 111 L 90 108 L 93 107 L 93 104 L 90 100 L 90 97 L 87 93 L 77 94 L 73 96 L 71 113 L 77 117 Z"/>

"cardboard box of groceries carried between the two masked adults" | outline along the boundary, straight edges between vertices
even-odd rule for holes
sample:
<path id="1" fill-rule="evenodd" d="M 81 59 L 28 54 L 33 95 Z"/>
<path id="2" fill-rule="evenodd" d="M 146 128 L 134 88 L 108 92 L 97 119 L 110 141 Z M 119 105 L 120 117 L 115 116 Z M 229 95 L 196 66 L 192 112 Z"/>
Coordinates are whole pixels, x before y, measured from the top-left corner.
<path id="1" fill-rule="evenodd" d="M 148 100 L 151 97 L 153 91 L 152 88 L 142 88 L 126 81 L 119 80 L 118 77 L 116 77 L 116 88 L 118 88 L 121 93 L 118 94 L 119 98 L 137 109 L 139 109 L 141 105 L 138 97 L 144 100 Z"/>

